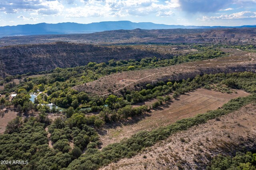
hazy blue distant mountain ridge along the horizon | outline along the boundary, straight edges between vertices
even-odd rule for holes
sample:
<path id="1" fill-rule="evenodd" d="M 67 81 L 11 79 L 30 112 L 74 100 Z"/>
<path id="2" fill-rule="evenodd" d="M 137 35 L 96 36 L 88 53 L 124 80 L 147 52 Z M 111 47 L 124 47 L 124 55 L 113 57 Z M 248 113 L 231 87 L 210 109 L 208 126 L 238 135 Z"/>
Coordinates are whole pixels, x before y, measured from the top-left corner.
<path id="1" fill-rule="evenodd" d="M 90 24 L 78 24 L 74 22 L 64 22 L 58 24 L 25 24 L 17 26 L 2 26 L 0 27 L 0 37 L 4 36 L 26 36 L 26 35 L 44 35 L 44 34 L 75 34 L 75 33 L 92 33 L 102 32 L 110 30 L 134 30 L 136 28 L 144 30 L 155 29 L 175 29 L 175 28 L 256 28 L 253 26 L 182 26 L 182 25 L 165 25 L 154 24 L 152 22 L 130 22 L 130 21 L 106 21 L 106 22 L 94 22 Z"/>

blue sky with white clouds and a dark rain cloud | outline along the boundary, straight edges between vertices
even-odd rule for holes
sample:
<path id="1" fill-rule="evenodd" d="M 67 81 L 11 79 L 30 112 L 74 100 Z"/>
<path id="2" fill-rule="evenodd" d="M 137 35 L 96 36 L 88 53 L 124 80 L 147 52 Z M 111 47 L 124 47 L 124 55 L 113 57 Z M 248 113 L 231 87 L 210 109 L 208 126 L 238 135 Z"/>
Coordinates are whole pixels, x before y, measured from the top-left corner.
<path id="1" fill-rule="evenodd" d="M 0 26 L 120 20 L 185 26 L 256 25 L 256 0 L 0 0 Z"/>

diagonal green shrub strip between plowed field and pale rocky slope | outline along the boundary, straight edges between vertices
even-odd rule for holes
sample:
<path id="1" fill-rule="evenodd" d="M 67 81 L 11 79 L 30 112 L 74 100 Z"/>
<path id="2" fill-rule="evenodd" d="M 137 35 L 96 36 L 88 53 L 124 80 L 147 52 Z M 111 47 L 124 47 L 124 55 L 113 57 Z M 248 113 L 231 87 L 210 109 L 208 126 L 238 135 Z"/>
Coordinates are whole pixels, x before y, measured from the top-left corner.
<path id="1" fill-rule="evenodd" d="M 182 119 L 176 123 L 148 131 L 141 131 L 134 134 L 127 140 L 120 143 L 109 144 L 101 151 L 98 149 L 89 148 L 80 156 L 80 158 L 72 161 L 68 168 L 70 169 L 97 169 L 100 166 L 109 164 L 110 162 L 120 160 L 124 157 L 132 157 L 142 150 L 142 148 L 152 146 L 159 140 L 164 140 L 171 134 L 186 130 L 190 127 L 206 123 L 210 119 L 226 115 L 240 109 L 242 106 L 256 101 L 256 95 L 252 94 L 247 97 L 239 97 L 232 99 L 224 104 L 221 109 L 208 111 L 205 114 L 197 115 L 193 118 Z"/>

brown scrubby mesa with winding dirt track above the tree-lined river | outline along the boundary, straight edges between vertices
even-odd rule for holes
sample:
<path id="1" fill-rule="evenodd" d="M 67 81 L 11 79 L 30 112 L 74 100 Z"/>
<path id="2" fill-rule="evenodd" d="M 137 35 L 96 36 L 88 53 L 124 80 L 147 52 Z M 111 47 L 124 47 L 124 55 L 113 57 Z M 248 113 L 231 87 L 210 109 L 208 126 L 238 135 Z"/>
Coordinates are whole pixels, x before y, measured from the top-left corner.
<path id="1" fill-rule="evenodd" d="M 228 57 L 195 61 L 172 65 L 168 67 L 158 67 L 154 69 L 125 71 L 101 77 L 83 85 L 73 87 L 78 91 L 85 91 L 90 95 L 110 95 L 119 93 L 122 89 L 136 89 L 136 85 L 146 85 L 157 81 L 168 79 L 180 80 L 195 77 L 204 73 L 232 73 L 241 71 L 255 71 L 255 53 L 239 51 L 237 49 L 222 49 L 230 53 Z M 122 81 L 122 80 L 126 81 Z"/>

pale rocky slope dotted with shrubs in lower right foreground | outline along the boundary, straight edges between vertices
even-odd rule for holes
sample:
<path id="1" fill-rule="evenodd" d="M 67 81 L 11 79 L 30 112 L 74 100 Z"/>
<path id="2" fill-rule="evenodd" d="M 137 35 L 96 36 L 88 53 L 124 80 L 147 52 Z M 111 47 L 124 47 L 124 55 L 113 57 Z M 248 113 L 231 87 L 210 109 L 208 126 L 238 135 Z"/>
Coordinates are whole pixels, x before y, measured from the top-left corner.
<path id="1" fill-rule="evenodd" d="M 132 158 L 103 167 L 103 170 L 178 170 L 205 169 L 212 156 L 234 155 L 242 148 L 256 149 L 256 106 L 210 120 L 205 124 L 178 132 Z M 184 140 L 181 140 L 184 139 Z"/>

